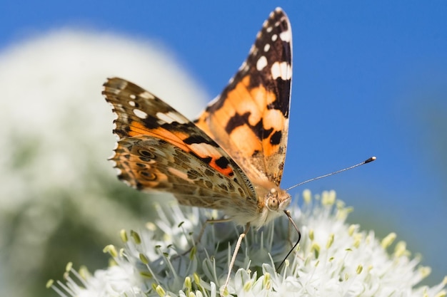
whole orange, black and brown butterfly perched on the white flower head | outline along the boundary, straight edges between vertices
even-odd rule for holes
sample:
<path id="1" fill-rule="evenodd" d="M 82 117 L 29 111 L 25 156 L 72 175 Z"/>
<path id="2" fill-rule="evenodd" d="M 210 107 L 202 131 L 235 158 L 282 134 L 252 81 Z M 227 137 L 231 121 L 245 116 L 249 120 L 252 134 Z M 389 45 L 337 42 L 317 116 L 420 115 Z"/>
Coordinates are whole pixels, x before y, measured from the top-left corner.
<path id="1" fill-rule="evenodd" d="M 179 204 L 220 209 L 246 226 L 224 289 L 250 226 L 260 228 L 288 214 L 291 195 L 280 182 L 291 76 L 291 24 L 277 8 L 236 75 L 196 120 L 127 80 L 104 83 L 103 95 L 116 113 L 119 140 L 111 160 L 119 179 L 141 191 L 174 194 Z"/>

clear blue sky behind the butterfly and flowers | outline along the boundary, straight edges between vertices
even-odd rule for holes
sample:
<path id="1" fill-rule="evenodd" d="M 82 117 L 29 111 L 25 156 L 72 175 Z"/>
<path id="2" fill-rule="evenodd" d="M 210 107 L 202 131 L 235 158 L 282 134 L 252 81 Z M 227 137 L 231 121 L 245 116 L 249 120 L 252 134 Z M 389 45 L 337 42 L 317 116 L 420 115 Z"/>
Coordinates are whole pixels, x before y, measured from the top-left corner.
<path id="1" fill-rule="evenodd" d="M 154 40 L 210 100 L 281 6 L 293 29 L 282 186 L 376 155 L 371 165 L 306 187 L 336 189 L 356 209 L 353 222 L 379 222 L 379 236 L 396 231 L 438 273 L 433 282 L 447 273 L 446 1 L 7 0 L 1 6 L 0 50 L 61 27 Z"/>

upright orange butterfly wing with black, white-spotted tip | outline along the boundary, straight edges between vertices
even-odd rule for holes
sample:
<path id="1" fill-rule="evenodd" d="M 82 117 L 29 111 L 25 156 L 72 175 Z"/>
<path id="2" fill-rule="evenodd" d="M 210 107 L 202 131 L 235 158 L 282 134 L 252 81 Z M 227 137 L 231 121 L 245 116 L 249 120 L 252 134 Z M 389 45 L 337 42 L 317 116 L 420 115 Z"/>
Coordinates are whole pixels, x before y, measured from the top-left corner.
<path id="1" fill-rule="evenodd" d="M 281 9 L 264 22 L 248 58 L 194 121 L 252 181 L 281 182 L 292 75 L 291 26 Z"/>

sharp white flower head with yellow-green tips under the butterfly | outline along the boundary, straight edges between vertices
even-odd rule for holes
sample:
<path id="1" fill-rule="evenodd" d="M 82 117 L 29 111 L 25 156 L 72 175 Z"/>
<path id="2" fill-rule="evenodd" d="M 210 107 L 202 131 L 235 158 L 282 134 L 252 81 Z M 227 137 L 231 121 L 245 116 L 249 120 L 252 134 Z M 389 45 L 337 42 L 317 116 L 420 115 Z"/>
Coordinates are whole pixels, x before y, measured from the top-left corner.
<path id="1" fill-rule="evenodd" d="M 446 296 L 445 278 L 437 286 L 418 286 L 429 269 L 418 267 L 403 242 L 393 251 L 396 235 L 379 241 L 373 231 L 361 231 L 345 219 L 350 208 L 335 192 L 311 199 L 303 193 L 301 209 L 291 214 L 303 237 L 286 264 L 274 269 L 296 239 L 286 217 L 243 240 L 228 285 L 229 296 Z M 201 241 L 195 236 L 211 210 L 159 207 L 159 219 L 141 231 L 122 231 L 124 248 L 107 246 L 114 265 L 52 285 L 61 296 L 219 296 L 228 261 L 241 227 L 231 223 L 206 226 Z M 189 248 L 194 246 L 189 251 Z M 228 247 L 231 246 L 231 249 Z M 64 292 L 63 292 L 64 291 Z"/>

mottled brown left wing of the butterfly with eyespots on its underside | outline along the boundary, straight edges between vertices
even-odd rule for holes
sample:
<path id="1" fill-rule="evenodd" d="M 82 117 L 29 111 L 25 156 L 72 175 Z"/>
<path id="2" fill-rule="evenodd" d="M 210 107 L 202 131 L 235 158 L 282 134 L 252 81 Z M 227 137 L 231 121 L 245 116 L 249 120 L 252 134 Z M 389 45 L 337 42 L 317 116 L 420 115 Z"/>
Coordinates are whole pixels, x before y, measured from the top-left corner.
<path id="1" fill-rule="evenodd" d="M 235 199 L 256 206 L 253 186 L 236 162 L 174 108 L 121 78 L 107 80 L 103 95 L 117 115 L 111 160 L 119 179 L 136 189 L 171 192 L 191 206 L 225 209 Z"/>

